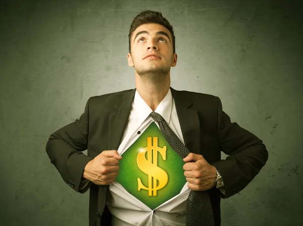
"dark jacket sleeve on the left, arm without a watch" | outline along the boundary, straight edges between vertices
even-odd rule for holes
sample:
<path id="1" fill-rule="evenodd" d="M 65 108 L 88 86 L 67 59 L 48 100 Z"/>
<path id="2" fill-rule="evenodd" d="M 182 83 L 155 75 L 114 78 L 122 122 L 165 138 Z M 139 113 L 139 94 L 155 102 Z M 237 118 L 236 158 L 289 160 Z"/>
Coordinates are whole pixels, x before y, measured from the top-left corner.
<path id="1" fill-rule="evenodd" d="M 89 102 L 79 120 L 54 132 L 46 143 L 46 153 L 55 165 L 62 179 L 76 192 L 84 193 L 92 182 L 81 182 L 84 167 L 93 158 L 82 151 L 87 149 Z"/>

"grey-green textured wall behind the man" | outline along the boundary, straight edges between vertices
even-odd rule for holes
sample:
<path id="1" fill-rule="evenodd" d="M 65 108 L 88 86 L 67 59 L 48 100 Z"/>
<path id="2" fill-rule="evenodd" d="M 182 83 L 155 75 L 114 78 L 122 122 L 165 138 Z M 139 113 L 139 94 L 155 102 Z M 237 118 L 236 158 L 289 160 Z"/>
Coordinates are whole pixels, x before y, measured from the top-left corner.
<path id="1" fill-rule="evenodd" d="M 260 174 L 222 199 L 222 225 L 303 225 L 299 3 L 0 1 L 1 224 L 88 224 L 88 192 L 66 185 L 46 141 L 90 96 L 135 87 L 128 31 L 149 9 L 174 26 L 172 87 L 219 96 L 268 148 Z"/>

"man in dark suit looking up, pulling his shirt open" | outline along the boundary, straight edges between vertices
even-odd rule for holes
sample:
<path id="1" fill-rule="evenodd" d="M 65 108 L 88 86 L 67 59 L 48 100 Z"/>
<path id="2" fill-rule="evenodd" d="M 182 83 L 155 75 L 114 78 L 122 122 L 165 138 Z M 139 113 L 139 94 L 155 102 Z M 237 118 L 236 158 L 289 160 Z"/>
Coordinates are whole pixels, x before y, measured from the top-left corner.
<path id="1" fill-rule="evenodd" d="M 265 145 L 230 122 L 219 97 L 170 87 L 170 68 L 177 64 L 175 36 L 161 13 L 144 11 L 134 18 L 127 59 L 135 70 L 136 88 L 90 97 L 79 120 L 49 137 L 51 162 L 75 191 L 90 189 L 91 226 L 220 225 L 220 199 L 243 190 L 256 177 L 268 159 Z M 155 120 L 152 112 L 163 121 Z M 154 211 L 115 182 L 121 155 L 152 122 L 164 135 L 163 125 L 169 127 L 190 152 L 183 158 L 187 182 L 182 191 Z M 87 156 L 82 153 L 86 149 Z M 229 155 L 225 160 L 221 151 Z M 210 208 L 199 209 L 200 203 L 194 203 L 198 198 L 187 201 L 191 193 L 206 195 L 201 203 L 210 200 Z M 203 215 L 207 211 L 209 223 L 204 218 L 208 213 Z M 194 218 L 200 221 L 190 223 Z"/>

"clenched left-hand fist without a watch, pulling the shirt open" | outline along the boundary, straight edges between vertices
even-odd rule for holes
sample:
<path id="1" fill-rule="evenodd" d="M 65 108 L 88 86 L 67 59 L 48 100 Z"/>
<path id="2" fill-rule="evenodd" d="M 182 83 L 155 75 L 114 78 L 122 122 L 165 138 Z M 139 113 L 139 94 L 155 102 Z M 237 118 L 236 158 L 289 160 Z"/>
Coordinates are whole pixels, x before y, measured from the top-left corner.
<path id="1" fill-rule="evenodd" d="M 109 185 L 118 176 L 120 159 L 117 150 L 103 151 L 85 165 L 82 177 L 96 185 Z"/>

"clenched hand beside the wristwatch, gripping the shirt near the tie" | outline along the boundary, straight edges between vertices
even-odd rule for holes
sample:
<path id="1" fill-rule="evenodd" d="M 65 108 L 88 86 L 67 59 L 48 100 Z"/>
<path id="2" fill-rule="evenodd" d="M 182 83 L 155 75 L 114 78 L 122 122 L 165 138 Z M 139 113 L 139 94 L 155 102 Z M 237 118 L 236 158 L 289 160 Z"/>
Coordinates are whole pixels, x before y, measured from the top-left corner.
<path id="1" fill-rule="evenodd" d="M 183 170 L 188 188 L 194 191 L 206 191 L 216 185 L 216 167 L 209 164 L 202 155 L 189 153 L 183 161 L 186 162 Z"/>

